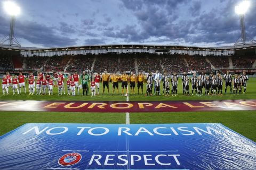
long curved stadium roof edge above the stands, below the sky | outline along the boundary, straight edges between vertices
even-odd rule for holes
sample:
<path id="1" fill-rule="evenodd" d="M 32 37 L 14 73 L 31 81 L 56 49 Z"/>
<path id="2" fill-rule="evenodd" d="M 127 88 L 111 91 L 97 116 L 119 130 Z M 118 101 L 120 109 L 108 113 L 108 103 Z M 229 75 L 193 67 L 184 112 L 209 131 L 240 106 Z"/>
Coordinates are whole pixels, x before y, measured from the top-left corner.
<path id="1" fill-rule="evenodd" d="M 114 45 L 85 45 L 85 46 L 68 46 L 68 47 L 51 47 L 51 48 L 35 48 L 35 47 L 19 47 L 10 45 L 0 45 L 1 49 L 22 50 L 34 52 L 49 52 L 61 50 L 86 50 L 86 49 L 179 49 L 179 50 L 238 50 L 255 48 L 256 43 L 222 46 L 222 47 L 196 47 L 196 46 L 175 46 L 175 45 L 139 45 L 139 44 L 114 44 Z"/>

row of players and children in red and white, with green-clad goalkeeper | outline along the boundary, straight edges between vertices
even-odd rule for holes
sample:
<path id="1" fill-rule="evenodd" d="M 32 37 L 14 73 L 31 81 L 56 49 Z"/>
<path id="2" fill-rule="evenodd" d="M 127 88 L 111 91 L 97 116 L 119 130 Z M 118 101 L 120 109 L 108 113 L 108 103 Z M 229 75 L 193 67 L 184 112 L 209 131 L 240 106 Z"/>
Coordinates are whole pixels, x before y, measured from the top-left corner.
<path id="1" fill-rule="evenodd" d="M 86 92 L 86 95 L 89 93 L 89 75 L 85 72 L 81 75 L 81 83 L 79 85 L 79 75 L 75 72 L 73 75 L 69 74 L 66 84 L 67 84 L 67 95 L 75 96 L 76 92 L 75 89 L 77 88 L 77 94 L 79 95 L 79 89 L 83 88 L 83 95 Z M 95 80 L 94 80 L 95 79 Z M 6 72 L 6 75 L 3 76 L 2 79 L 2 89 L 3 95 L 9 94 L 9 87 L 12 87 L 13 95 L 15 92 L 17 94 L 21 94 L 21 89 L 23 88 L 24 93 L 26 94 L 26 85 L 25 82 L 28 82 L 29 88 L 29 95 L 35 94 L 36 95 L 46 95 L 46 90 L 49 95 L 53 95 L 53 87 L 58 87 L 58 95 L 66 95 L 65 84 L 64 84 L 65 77 L 62 72 L 53 73 L 53 76 L 46 73 L 45 75 L 42 72 L 38 72 L 37 79 L 33 73 L 30 73 L 28 76 L 28 80 L 26 79 L 25 75 L 22 72 L 19 72 L 19 75 L 14 75 L 12 78 L 9 72 Z M 95 96 L 95 86 L 98 87 L 98 94 L 99 94 L 99 81 L 100 76 L 95 76 L 90 82 L 90 87 L 92 91 L 92 96 Z"/>

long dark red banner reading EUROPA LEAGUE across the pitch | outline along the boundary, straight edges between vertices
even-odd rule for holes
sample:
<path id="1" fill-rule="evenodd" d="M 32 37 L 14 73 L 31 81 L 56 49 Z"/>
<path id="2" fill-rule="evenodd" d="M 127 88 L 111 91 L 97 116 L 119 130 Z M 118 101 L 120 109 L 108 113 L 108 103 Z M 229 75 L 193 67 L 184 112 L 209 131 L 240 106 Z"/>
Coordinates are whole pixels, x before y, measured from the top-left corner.
<path id="1" fill-rule="evenodd" d="M 0 101 L 0 111 L 42 112 L 201 112 L 255 111 L 256 100 L 188 101 Z"/>

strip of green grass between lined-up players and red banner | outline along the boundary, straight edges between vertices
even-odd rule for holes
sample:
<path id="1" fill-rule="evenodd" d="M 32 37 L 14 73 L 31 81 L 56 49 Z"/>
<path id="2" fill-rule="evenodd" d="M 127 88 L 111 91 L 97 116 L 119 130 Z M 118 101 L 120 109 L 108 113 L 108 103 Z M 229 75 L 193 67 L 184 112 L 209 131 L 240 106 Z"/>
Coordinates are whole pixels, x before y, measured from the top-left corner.
<path id="1" fill-rule="evenodd" d="M 2 84 L 0 85 L 2 87 Z M 100 83 L 100 94 L 102 94 L 102 84 Z M 223 96 L 184 96 L 182 94 L 182 82 L 181 80 L 179 80 L 178 83 L 178 96 L 144 96 L 141 95 L 141 91 L 140 91 L 140 95 L 130 95 L 129 96 L 129 100 L 130 101 L 158 101 L 158 100 L 235 100 L 235 99 L 256 99 L 256 93 L 255 93 L 255 86 L 256 86 L 256 78 L 250 78 L 250 80 L 247 83 L 247 91 L 246 94 L 241 94 L 241 95 L 233 95 L 233 94 L 229 94 L 229 88 L 228 88 L 228 93 L 226 95 Z M 66 87 L 67 88 L 67 87 Z M 191 88 L 191 87 L 189 87 Z M 11 89 L 11 88 L 10 88 Z M 57 87 L 54 87 L 53 89 L 53 96 L 48 96 L 48 95 L 33 95 L 30 96 L 29 91 L 28 91 L 28 84 L 27 84 L 27 95 L 24 94 L 23 92 L 23 88 L 22 88 L 22 94 L 21 95 L 12 95 L 12 90 L 10 90 L 10 94 L 9 95 L 0 95 L 0 100 L 90 100 L 90 101 L 126 101 L 126 97 L 121 96 L 121 83 L 119 83 L 119 95 L 115 94 L 114 96 L 112 96 L 112 83 L 109 84 L 109 89 L 110 89 L 110 96 L 105 95 L 99 95 L 96 97 L 91 97 L 91 96 L 82 96 L 82 95 L 77 95 L 77 96 L 58 96 L 58 89 Z M 90 90 L 90 89 L 89 89 Z M 161 84 L 161 90 L 162 90 L 162 84 Z M 115 90 L 116 91 L 116 90 Z M 146 83 L 144 83 L 144 88 L 143 88 L 143 92 L 146 92 Z M 154 92 L 154 90 L 153 90 Z M 204 92 L 204 91 L 203 91 Z M 223 86 L 223 90 L 222 90 L 223 94 L 225 92 L 225 86 Z M 129 93 L 130 93 L 130 87 L 129 87 Z M 137 87 L 135 88 L 135 94 L 138 93 L 138 89 Z M 162 93 L 162 91 L 161 91 Z M 190 93 L 191 93 L 191 89 L 190 89 Z M 67 89 L 66 89 L 66 94 L 67 94 Z M 82 94 L 82 90 L 80 90 L 80 94 Z M 105 94 L 108 94 L 107 92 L 107 88 L 105 89 Z"/>

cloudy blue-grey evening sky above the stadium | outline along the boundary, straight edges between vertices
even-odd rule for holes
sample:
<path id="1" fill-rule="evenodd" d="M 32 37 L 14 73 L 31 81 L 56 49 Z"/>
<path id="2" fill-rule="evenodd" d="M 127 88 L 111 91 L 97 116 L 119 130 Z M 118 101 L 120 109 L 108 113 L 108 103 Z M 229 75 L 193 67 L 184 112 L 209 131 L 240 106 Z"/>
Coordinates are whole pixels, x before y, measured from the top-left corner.
<path id="1" fill-rule="evenodd" d="M 10 16 L 1 0 L 0 39 Z M 15 37 L 22 46 L 95 44 L 223 46 L 240 36 L 235 6 L 242 0 L 13 0 L 21 7 Z M 256 1 L 245 14 L 256 39 Z"/>

